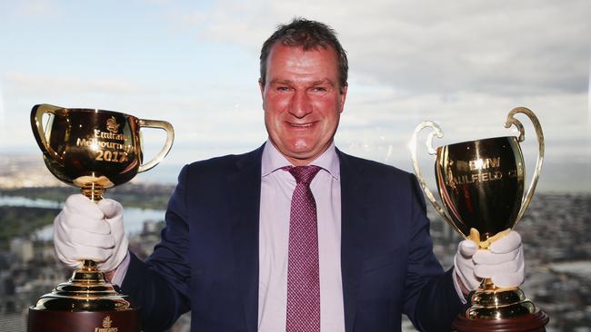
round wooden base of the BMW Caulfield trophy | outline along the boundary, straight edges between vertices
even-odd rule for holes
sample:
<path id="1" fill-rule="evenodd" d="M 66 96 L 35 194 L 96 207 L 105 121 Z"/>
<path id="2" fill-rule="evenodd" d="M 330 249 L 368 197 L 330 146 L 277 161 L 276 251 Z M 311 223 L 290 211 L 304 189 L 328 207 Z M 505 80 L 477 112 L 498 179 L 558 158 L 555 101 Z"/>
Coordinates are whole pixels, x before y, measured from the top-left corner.
<path id="1" fill-rule="evenodd" d="M 544 311 L 505 319 L 469 319 L 458 316 L 452 327 L 457 332 L 546 332 L 548 320 Z"/>

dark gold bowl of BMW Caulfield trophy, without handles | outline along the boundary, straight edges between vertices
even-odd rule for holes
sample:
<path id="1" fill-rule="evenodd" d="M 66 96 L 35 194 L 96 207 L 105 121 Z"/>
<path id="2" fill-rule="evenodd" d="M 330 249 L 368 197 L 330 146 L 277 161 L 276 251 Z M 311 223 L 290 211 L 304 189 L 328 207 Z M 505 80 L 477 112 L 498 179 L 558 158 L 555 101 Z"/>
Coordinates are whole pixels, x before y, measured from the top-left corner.
<path id="1" fill-rule="evenodd" d="M 465 237 L 481 240 L 513 228 L 524 192 L 523 155 L 516 137 L 496 137 L 437 148 L 439 196 Z"/>

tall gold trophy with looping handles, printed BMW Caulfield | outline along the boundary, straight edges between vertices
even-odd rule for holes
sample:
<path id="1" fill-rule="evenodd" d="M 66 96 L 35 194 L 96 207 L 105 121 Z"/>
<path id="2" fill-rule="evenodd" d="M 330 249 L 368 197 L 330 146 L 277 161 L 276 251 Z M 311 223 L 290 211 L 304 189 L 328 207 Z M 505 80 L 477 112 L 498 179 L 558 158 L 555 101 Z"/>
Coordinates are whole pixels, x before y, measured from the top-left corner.
<path id="1" fill-rule="evenodd" d="M 537 135 L 538 156 L 529 189 L 524 196 L 526 168 L 519 142 L 525 140 L 524 127 L 514 118 L 524 113 L 533 122 Z M 522 219 L 536 190 L 544 160 L 544 134 L 534 112 L 517 107 L 509 112 L 505 127 L 515 125 L 519 136 L 506 136 L 460 142 L 437 149 L 435 137 L 443 132 L 435 122 L 416 127 L 409 144 L 413 167 L 426 198 L 444 220 L 480 249 L 514 229 Z M 419 132 L 430 128 L 426 148 L 436 154 L 435 175 L 441 206 L 429 190 L 416 158 Z M 454 322 L 458 331 L 545 331 L 548 317 L 536 310 L 520 288 L 498 288 L 485 278 L 470 294 L 470 308 Z"/>

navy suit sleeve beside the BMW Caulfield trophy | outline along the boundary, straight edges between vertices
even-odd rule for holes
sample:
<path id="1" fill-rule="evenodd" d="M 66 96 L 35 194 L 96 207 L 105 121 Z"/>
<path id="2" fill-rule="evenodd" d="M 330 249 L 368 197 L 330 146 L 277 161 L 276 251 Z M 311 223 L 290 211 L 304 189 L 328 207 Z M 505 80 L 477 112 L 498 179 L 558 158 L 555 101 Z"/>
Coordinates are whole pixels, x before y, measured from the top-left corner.
<path id="1" fill-rule="evenodd" d="M 420 331 L 450 331 L 464 305 L 454 287 L 453 268 L 443 273 L 433 253 L 426 202 L 414 175 L 410 181 L 412 223 L 404 312 Z"/>

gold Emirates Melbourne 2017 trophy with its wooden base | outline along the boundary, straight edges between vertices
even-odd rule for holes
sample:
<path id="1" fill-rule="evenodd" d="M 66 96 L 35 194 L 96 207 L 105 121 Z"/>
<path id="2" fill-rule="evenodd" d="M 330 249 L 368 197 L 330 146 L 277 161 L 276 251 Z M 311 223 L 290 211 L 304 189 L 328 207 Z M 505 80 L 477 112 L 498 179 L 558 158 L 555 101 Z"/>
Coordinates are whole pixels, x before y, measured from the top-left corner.
<path id="1" fill-rule="evenodd" d="M 45 127 L 42 124 L 47 117 Z M 170 151 L 170 123 L 138 119 L 121 112 L 35 105 L 31 127 L 43 151 L 45 165 L 60 181 L 82 190 L 90 200 L 102 200 L 105 189 L 132 180 L 157 165 Z M 140 129 L 166 131 L 164 147 L 143 163 Z M 139 311 L 85 259 L 69 281 L 45 294 L 29 308 L 29 332 L 138 332 Z"/>

